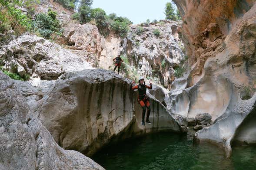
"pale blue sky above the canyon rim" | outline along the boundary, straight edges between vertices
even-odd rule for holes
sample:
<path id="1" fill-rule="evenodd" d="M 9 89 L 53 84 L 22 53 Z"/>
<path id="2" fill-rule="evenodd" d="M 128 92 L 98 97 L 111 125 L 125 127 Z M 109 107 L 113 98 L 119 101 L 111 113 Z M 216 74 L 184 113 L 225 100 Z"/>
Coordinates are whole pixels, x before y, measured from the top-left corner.
<path id="1" fill-rule="evenodd" d="M 164 8 L 171 0 L 93 0 L 92 8 L 102 8 L 106 14 L 129 18 L 133 24 L 145 22 L 147 19 L 163 20 Z"/>

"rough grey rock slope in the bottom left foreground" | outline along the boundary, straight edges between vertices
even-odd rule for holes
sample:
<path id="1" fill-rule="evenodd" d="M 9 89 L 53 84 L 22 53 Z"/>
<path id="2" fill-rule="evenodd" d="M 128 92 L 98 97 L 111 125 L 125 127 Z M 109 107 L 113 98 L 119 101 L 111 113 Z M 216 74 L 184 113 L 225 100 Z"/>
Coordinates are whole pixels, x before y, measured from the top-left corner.
<path id="1" fill-rule="evenodd" d="M 104 170 L 79 152 L 63 150 L 30 111 L 15 82 L 3 72 L 0 72 L 0 160 L 1 170 L 70 170 L 74 167 Z"/>

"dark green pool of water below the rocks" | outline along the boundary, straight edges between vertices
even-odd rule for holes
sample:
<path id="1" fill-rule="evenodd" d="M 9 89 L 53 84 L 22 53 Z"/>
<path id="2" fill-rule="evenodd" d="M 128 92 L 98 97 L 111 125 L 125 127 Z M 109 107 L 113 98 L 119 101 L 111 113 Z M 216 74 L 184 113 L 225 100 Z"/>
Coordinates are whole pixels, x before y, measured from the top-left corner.
<path id="1" fill-rule="evenodd" d="M 108 146 L 92 159 L 106 170 L 256 170 L 256 147 L 234 147 L 226 159 L 222 147 L 193 144 L 192 130 L 162 132 Z"/>

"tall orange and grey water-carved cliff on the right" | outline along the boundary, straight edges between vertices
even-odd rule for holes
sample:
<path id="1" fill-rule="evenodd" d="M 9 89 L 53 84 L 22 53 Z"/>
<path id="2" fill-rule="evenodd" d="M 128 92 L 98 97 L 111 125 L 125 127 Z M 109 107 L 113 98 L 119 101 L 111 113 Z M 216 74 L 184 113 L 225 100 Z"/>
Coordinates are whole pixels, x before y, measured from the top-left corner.
<path id="1" fill-rule="evenodd" d="M 188 118 L 210 113 L 214 124 L 195 138 L 223 144 L 230 156 L 233 141 L 255 141 L 241 133 L 255 132 L 246 125 L 253 124 L 256 99 L 255 0 L 174 1 L 183 15 L 191 72 L 173 82 L 167 108 Z"/>

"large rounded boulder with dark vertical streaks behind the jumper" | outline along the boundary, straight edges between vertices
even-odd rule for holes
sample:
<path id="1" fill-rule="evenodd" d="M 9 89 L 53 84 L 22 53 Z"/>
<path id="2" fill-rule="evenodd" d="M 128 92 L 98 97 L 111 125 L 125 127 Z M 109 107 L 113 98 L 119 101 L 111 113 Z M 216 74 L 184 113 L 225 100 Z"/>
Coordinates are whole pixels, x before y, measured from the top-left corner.
<path id="1" fill-rule="evenodd" d="M 136 95 L 126 78 L 106 70 L 84 70 L 58 80 L 40 101 L 36 114 L 61 147 L 86 155 L 112 140 L 181 131 L 173 115 L 150 94 L 152 124 L 142 126 Z"/>

